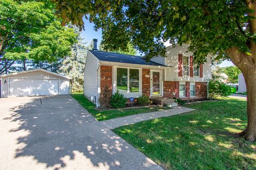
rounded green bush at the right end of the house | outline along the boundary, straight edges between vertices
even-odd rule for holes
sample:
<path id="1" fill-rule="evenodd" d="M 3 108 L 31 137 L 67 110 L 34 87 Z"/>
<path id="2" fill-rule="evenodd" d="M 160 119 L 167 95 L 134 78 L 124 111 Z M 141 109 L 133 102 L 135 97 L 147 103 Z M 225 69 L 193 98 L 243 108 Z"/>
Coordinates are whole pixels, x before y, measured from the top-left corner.
<path id="1" fill-rule="evenodd" d="M 231 87 L 225 83 L 210 80 L 209 81 L 209 98 L 227 97 L 231 95 Z"/>

